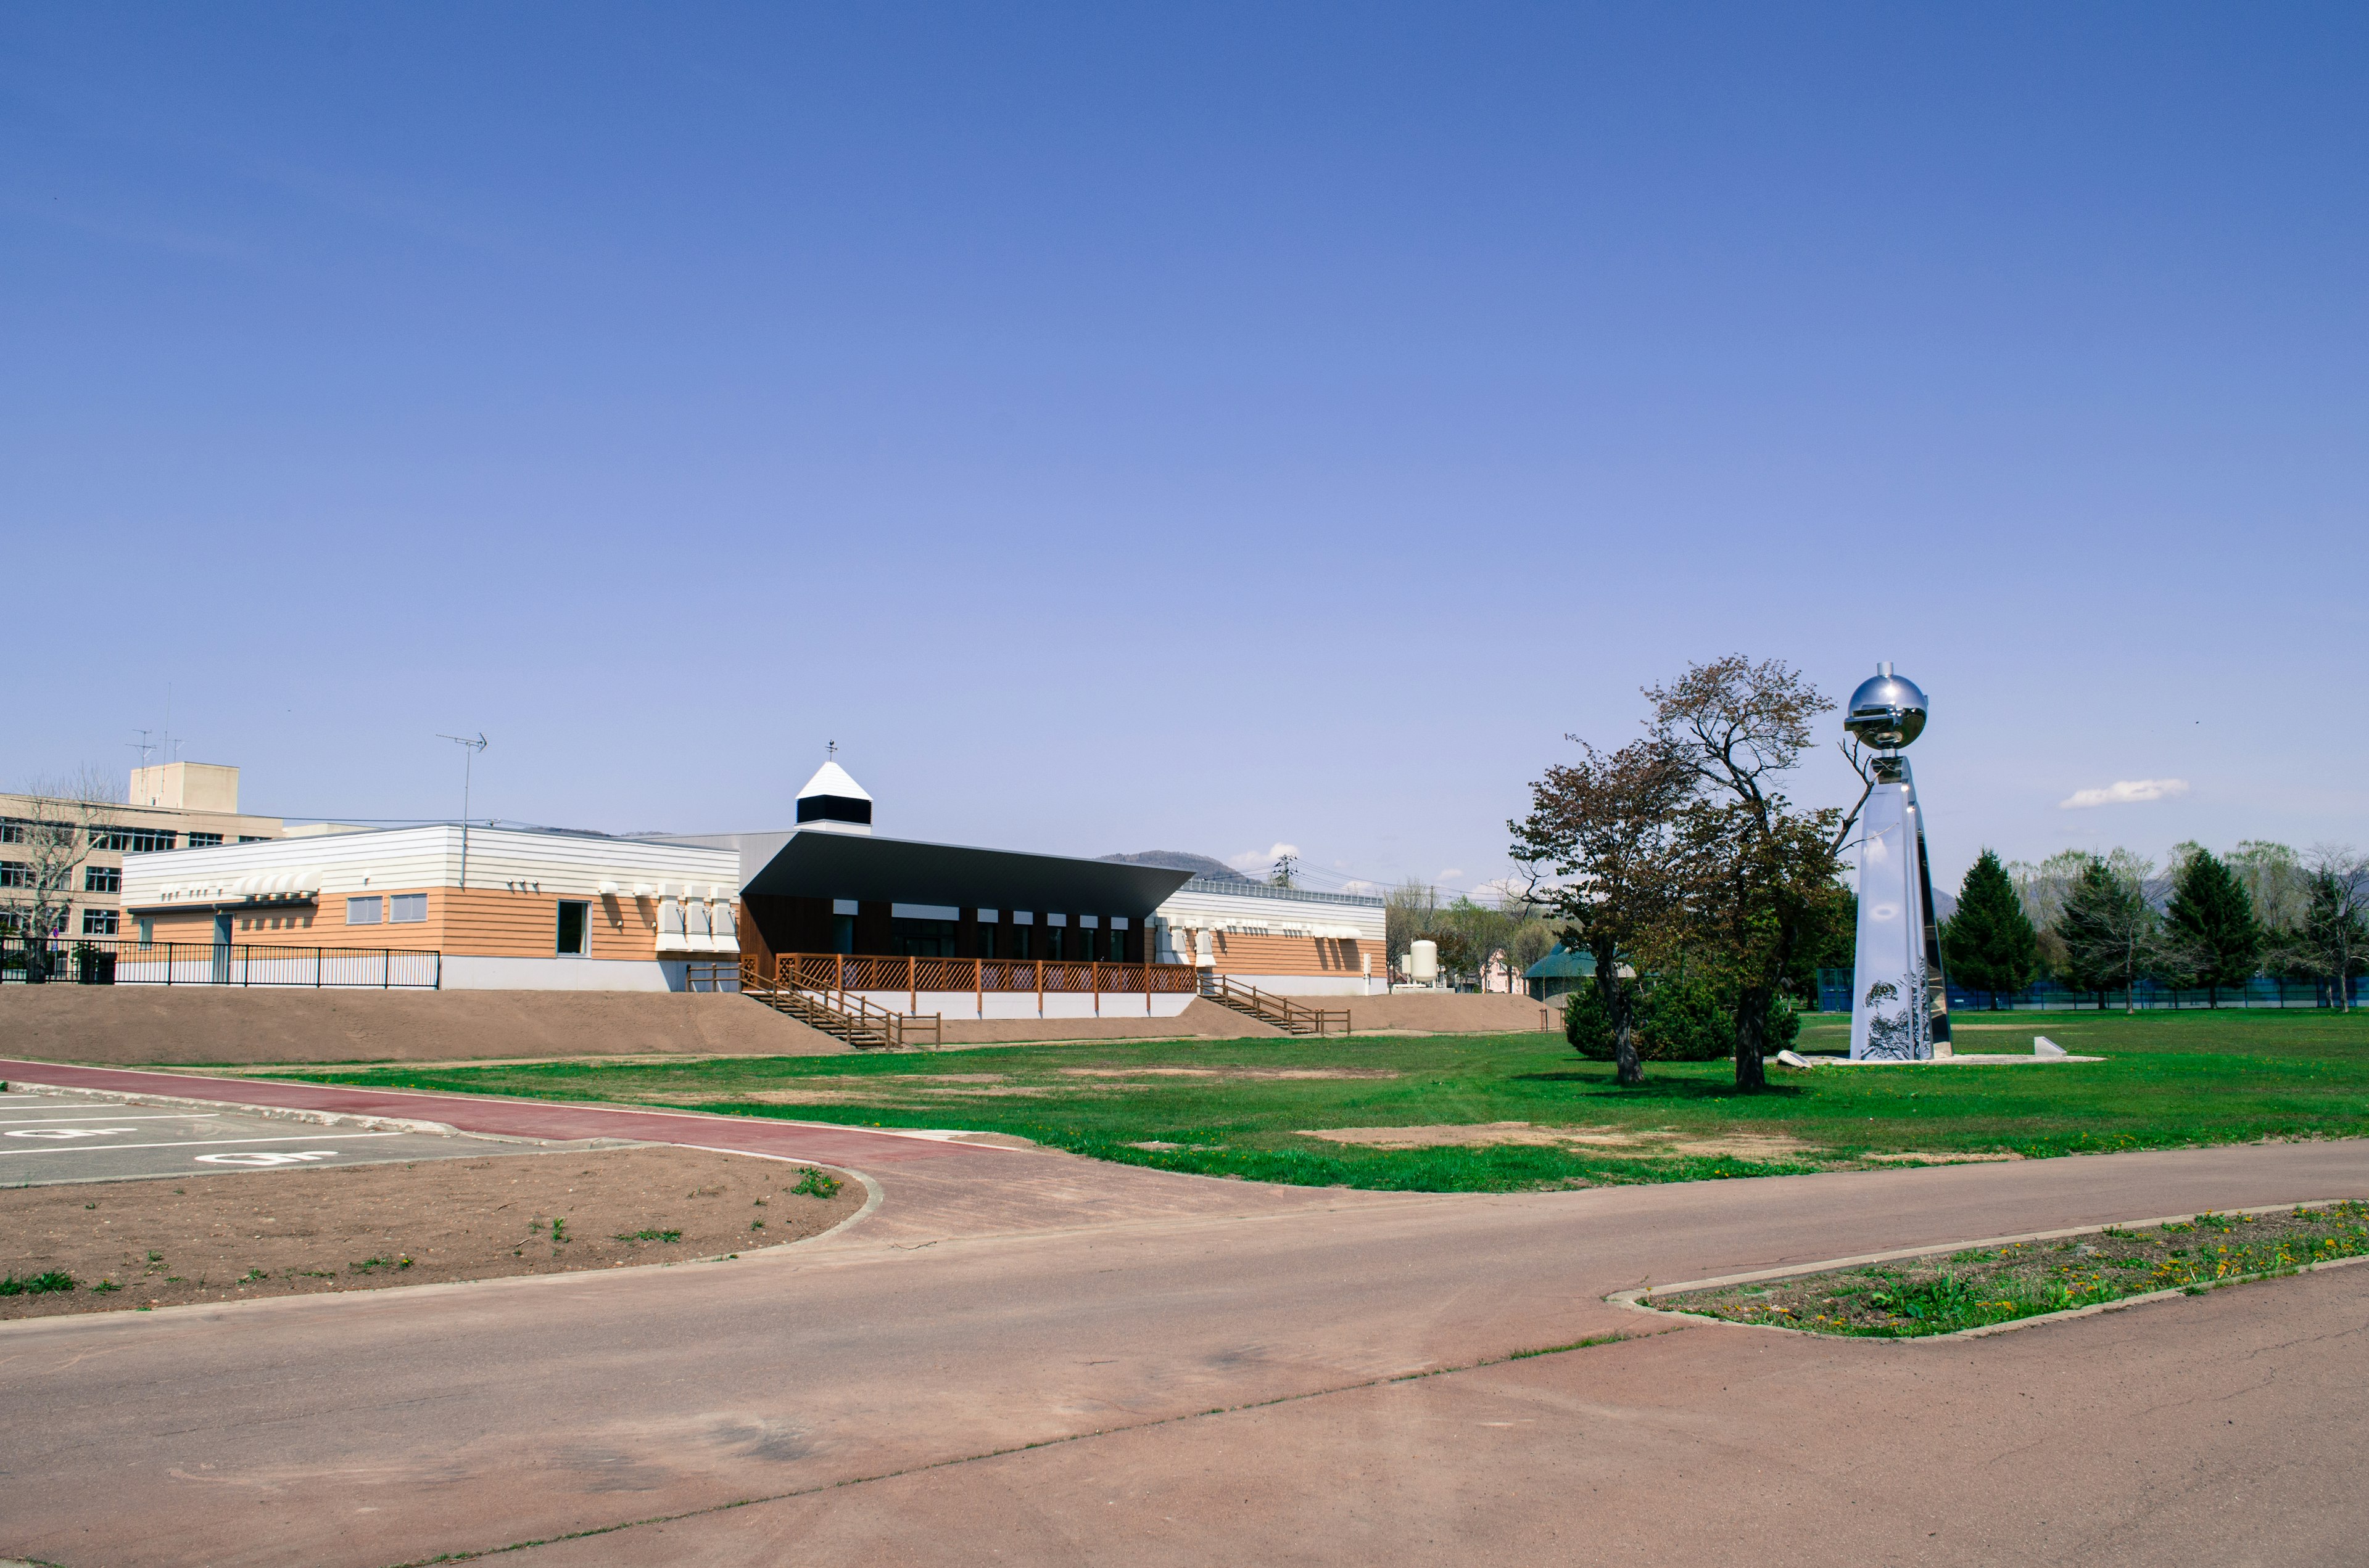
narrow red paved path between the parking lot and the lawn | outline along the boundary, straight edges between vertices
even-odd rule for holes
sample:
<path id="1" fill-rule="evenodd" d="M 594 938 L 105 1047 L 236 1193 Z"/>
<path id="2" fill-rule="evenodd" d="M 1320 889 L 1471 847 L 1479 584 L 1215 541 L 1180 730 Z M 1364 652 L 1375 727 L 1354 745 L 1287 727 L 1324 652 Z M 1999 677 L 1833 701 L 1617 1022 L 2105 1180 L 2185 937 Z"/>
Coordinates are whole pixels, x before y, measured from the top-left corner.
<path id="1" fill-rule="evenodd" d="M 824 1165 L 900 1165 L 907 1161 L 969 1156 L 978 1149 L 978 1144 L 955 1144 L 910 1132 L 874 1132 L 869 1127 L 834 1127 L 829 1123 L 794 1123 L 758 1116 L 481 1099 L 474 1094 L 434 1094 L 422 1090 L 358 1090 L 329 1082 L 277 1082 L 270 1078 L 135 1073 L 128 1068 L 78 1068 L 57 1061 L 0 1061 L 0 1078 L 62 1090 L 213 1099 L 282 1111 L 403 1116 L 445 1123 L 462 1132 L 497 1132 L 505 1137 L 630 1137 L 654 1144 L 699 1144 L 704 1149 L 775 1153 Z"/>

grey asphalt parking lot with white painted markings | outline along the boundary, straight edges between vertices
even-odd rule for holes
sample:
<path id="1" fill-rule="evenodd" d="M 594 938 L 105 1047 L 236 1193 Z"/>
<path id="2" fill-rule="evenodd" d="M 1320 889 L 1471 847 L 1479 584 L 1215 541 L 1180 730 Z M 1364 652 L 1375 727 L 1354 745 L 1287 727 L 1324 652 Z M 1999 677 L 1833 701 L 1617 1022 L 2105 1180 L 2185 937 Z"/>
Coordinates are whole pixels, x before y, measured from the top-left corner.
<path id="1" fill-rule="evenodd" d="M 0 1187 L 535 1153 L 488 1137 L 310 1125 L 239 1111 L 0 1094 Z"/>

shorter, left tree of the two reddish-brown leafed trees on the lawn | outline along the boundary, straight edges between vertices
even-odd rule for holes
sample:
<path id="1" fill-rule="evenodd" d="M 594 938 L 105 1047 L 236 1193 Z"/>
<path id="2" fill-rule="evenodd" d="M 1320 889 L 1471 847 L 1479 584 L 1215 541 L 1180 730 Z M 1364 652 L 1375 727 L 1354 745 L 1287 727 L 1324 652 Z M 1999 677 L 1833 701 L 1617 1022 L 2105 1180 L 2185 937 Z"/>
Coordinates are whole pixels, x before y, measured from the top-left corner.
<path id="1" fill-rule="evenodd" d="M 1533 883 L 1540 874 L 1556 879 L 1545 900 L 1564 921 L 1564 943 L 1597 962 L 1587 1000 L 1566 1004 L 1566 1028 L 1578 1030 L 1582 1014 L 1601 1018 L 1606 1059 L 1623 1085 L 1642 1082 L 1644 1071 L 1620 962 L 1646 945 L 1677 898 L 1677 820 L 1691 793 L 1691 770 L 1663 744 L 1604 753 L 1580 741 L 1580 760 L 1549 767 L 1530 784 L 1530 815 L 1507 822 L 1514 860 L 1533 869 Z"/>

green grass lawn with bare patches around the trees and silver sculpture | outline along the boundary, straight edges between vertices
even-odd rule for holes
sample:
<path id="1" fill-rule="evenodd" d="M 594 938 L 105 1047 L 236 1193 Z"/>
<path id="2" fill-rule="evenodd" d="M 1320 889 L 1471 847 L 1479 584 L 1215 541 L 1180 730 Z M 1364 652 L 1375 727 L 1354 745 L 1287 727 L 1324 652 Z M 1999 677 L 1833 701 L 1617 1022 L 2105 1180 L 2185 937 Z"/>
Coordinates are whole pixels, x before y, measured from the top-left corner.
<path id="1" fill-rule="evenodd" d="M 1969 1028 L 2009 1023 L 2009 1030 Z M 1786 1071 L 1739 1097 L 1725 1061 L 1623 1090 L 1559 1035 L 1023 1045 L 895 1056 L 301 1068 L 329 1082 L 971 1127 L 1094 1158 L 1256 1182 L 1504 1191 L 1834 1170 L 1881 1156 L 2059 1156 L 2369 1132 L 2369 1018 L 2322 1011 L 1962 1014 L 1962 1052 L 2044 1033 L 2106 1061 Z M 1798 1049 L 1841 1052 L 1848 1021 Z M 1327 1127 L 1528 1123 L 1528 1144 L 1383 1149 Z M 1561 1135 L 1537 1132 L 1561 1130 Z M 1452 1135 L 1450 1135 L 1452 1137 Z M 1147 1146 L 1151 1144 L 1151 1146 Z"/>

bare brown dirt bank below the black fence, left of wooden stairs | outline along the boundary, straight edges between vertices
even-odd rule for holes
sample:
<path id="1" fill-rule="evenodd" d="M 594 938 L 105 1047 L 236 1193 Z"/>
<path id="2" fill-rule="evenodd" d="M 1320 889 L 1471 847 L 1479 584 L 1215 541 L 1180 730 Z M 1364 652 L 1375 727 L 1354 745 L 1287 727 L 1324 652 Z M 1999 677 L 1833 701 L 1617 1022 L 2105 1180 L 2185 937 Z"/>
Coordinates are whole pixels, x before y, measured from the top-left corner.
<path id="1" fill-rule="evenodd" d="M 244 990 L 7 985 L 0 1056 L 102 1066 L 832 1056 L 839 1040 L 749 997 L 663 990 Z"/>

